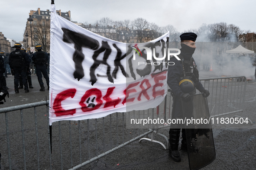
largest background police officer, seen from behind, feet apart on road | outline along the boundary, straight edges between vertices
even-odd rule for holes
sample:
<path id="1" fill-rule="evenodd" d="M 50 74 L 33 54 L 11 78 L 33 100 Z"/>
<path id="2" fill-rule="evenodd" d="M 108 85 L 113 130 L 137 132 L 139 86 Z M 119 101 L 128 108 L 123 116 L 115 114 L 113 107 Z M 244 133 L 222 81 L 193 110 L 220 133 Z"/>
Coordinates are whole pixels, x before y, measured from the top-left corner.
<path id="1" fill-rule="evenodd" d="M 20 50 L 22 45 L 15 43 L 12 48 L 16 50 L 12 51 L 9 56 L 10 68 L 14 71 L 14 90 L 15 93 L 19 93 L 19 75 L 22 77 L 25 93 L 29 93 L 28 82 L 26 78 L 26 66 L 31 62 L 31 58 L 25 51 Z"/>

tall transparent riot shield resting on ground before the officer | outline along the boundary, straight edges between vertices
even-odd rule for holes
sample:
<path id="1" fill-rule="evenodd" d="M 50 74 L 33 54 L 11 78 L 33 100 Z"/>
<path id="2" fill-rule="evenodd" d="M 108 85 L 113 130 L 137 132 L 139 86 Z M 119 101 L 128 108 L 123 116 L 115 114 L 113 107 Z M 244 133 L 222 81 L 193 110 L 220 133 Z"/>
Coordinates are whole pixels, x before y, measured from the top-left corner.
<path id="1" fill-rule="evenodd" d="M 211 129 L 207 99 L 202 94 L 191 95 L 189 102 L 181 102 L 191 170 L 198 170 L 215 159 L 214 139 Z M 187 125 L 188 124 L 188 125 Z"/>

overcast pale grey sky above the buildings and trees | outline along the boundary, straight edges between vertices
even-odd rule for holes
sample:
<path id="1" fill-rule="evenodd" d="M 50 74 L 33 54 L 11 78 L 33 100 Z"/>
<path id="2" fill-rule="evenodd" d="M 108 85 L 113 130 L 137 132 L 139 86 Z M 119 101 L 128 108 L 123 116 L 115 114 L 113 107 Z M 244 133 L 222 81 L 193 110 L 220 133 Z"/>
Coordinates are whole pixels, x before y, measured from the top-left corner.
<path id="1" fill-rule="evenodd" d="M 77 22 L 142 17 L 159 26 L 173 25 L 179 32 L 217 22 L 256 32 L 256 0 L 55 0 L 55 6 L 62 12 L 70 10 Z M 1 0 L 0 32 L 22 41 L 29 11 L 38 8 L 50 10 L 51 0 Z"/>

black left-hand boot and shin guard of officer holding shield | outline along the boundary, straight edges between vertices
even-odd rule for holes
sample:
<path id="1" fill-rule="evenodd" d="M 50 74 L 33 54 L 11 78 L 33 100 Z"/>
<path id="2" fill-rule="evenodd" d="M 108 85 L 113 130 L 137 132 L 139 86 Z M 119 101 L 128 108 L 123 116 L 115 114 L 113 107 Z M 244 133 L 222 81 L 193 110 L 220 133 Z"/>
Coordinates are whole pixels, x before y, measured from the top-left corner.
<path id="1" fill-rule="evenodd" d="M 178 142 L 180 138 L 180 132 L 181 129 L 170 129 L 169 134 L 170 134 L 170 150 L 169 150 L 169 156 L 172 158 L 172 160 L 176 162 L 181 161 L 180 153 L 178 152 Z"/>

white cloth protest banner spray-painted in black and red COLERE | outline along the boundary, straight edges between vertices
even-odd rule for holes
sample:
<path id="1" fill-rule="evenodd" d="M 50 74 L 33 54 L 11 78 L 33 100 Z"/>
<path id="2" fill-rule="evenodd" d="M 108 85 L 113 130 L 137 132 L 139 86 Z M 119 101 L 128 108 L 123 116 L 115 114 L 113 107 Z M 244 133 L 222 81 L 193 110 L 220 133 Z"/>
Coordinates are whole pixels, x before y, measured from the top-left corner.
<path id="1" fill-rule="evenodd" d="M 167 93 L 168 38 L 113 41 L 57 15 L 52 4 L 50 125 L 158 106 Z"/>

